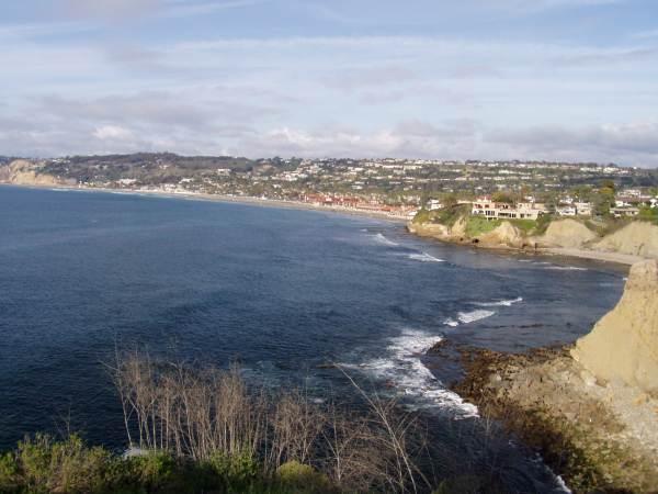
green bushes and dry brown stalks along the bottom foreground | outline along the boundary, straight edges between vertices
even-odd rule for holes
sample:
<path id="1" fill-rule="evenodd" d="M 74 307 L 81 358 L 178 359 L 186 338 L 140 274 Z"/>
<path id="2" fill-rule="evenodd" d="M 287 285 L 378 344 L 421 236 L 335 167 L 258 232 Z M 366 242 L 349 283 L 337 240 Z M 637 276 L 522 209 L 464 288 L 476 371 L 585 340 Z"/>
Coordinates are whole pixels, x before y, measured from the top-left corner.
<path id="1" fill-rule="evenodd" d="M 486 475 L 428 474 L 418 417 L 353 381 L 359 404 L 339 406 L 299 389 L 251 388 L 236 368 L 139 353 L 110 367 L 127 452 L 89 447 L 76 435 L 25 438 L 0 456 L 1 493 L 500 492 Z"/>

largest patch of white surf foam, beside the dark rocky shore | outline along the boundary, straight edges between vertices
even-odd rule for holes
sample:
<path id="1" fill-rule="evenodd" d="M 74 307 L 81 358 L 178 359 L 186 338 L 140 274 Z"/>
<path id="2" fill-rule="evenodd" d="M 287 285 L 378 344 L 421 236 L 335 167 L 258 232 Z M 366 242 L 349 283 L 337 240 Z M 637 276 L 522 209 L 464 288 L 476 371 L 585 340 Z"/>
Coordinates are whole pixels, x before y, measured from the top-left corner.
<path id="1" fill-rule="evenodd" d="M 449 408 L 457 418 L 477 417 L 477 406 L 446 390 L 420 360 L 428 349 L 441 340 L 439 336 L 406 329 L 400 336 L 389 339 L 386 357 L 373 359 L 358 368 L 412 397 L 420 407 Z"/>

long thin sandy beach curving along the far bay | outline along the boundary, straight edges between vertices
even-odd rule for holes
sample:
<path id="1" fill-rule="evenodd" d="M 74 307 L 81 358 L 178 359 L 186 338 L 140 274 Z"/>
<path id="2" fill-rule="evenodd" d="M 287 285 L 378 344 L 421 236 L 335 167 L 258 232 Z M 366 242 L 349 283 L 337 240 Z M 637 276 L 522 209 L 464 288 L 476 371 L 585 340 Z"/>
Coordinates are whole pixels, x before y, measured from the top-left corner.
<path id="1" fill-rule="evenodd" d="M 193 201 L 206 201 L 206 202 L 222 202 L 222 203 L 234 203 L 234 204 L 246 204 L 261 207 L 274 207 L 282 210 L 300 210 L 300 211 L 319 211 L 326 213 L 337 213 L 347 216 L 361 216 L 368 217 L 372 220 L 382 220 L 394 224 L 406 224 L 407 218 L 399 216 L 392 216 L 386 213 L 378 213 L 376 211 L 359 210 L 352 207 L 340 207 L 340 206 L 324 206 L 316 205 L 306 202 L 298 201 L 281 201 L 275 199 L 262 199 L 246 195 L 222 195 L 222 194 L 202 194 L 202 193 L 172 193 L 162 191 L 151 190 L 136 190 L 136 189 L 107 189 L 101 187 L 72 187 L 72 186 L 60 186 L 60 184 L 29 184 L 29 183 L 7 183 L 0 182 L 0 186 L 5 187 L 18 187 L 25 189 L 43 189 L 43 190 L 67 190 L 67 191 L 82 191 L 82 192 L 105 192 L 112 194 L 125 194 L 125 195 L 140 195 L 140 197 L 155 197 L 166 199 L 185 199 Z"/>

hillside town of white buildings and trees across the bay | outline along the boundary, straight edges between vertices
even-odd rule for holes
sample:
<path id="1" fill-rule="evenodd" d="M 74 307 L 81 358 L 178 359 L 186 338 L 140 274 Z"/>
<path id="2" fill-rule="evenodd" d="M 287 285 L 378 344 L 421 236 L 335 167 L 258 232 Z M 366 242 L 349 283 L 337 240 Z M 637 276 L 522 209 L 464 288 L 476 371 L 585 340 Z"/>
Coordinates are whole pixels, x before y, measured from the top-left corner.
<path id="1" fill-rule="evenodd" d="M 658 207 L 658 171 L 615 165 L 145 153 L 32 164 L 35 173 L 80 188 L 285 201 L 397 218 L 455 204 L 488 220 L 537 220 L 548 213 L 623 217 Z"/>

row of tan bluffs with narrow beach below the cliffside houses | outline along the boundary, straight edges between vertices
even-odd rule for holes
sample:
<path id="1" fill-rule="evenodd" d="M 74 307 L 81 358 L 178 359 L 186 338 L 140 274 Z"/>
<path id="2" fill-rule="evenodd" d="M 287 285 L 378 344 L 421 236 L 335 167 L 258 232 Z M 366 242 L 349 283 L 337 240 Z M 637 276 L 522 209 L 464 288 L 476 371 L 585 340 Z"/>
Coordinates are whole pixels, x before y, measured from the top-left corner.
<path id="1" fill-rule="evenodd" d="M 407 229 L 421 237 L 483 248 L 585 257 L 625 265 L 658 259 L 658 226 L 647 222 L 632 222 L 603 237 L 570 218 L 552 222 L 541 235 L 524 235 L 510 222 L 502 222 L 491 232 L 472 237 L 465 225 L 466 220 L 462 217 L 453 226 L 410 222 Z"/>

